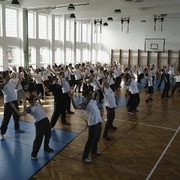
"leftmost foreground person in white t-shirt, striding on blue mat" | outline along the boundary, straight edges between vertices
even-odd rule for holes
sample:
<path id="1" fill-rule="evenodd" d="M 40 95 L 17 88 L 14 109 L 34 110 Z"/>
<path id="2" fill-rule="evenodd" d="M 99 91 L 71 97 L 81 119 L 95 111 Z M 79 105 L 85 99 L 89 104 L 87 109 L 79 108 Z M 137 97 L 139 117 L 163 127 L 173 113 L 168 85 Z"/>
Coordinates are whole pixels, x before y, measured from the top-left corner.
<path id="1" fill-rule="evenodd" d="M 2 78 L 4 82 L 0 84 L 0 90 L 2 90 L 4 96 L 4 115 L 1 123 L 0 140 L 4 140 L 4 134 L 7 131 L 11 116 L 13 116 L 14 119 L 15 132 L 24 133 L 24 130 L 21 130 L 19 126 L 19 115 L 14 111 L 14 109 L 10 104 L 10 103 L 14 104 L 16 109 L 18 109 L 17 93 L 15 91 L 16 86 L 9 81 L 10 80 L 9 72 L 3 73 Z"/>

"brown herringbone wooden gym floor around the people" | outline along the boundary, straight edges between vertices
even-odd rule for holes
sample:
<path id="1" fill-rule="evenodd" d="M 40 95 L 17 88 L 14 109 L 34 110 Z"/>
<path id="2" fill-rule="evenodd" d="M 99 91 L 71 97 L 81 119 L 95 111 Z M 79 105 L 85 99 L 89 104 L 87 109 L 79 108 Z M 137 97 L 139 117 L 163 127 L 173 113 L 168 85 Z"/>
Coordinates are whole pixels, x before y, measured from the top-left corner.
<path id="1" fill-rule="evenodd" d="M 125 88 L 117 91 L 125 97 Z M 78 93 L 76 96 L 80 96 Z M 100 139 L 100 156 L 92 156 L 93 163 L 81 161 L 87 140 L 86 116 L 82 110 L 68 115 L 71 126 L 58 121 L 56 128 L 66 129 L 79 135 L 55 158 L 43 167 L 33 179 L 62 180 L 178 180 L 180 179 L 180 93 L 173 98 L 161 99 L 161 91 L 155 91 L 153 101 L 145 102 L 145 91 L 140 90 L 139 112 L 128 115 L 126 107 L 116 108 L 111 141 Z M 0 100 L 2 106 L 2 100 Z M 53 97 L 43 102 L 50 119 Z M 100 110 L 105 125 L 106 111 Z M 3 111 L 1 110 L 1 116 Z M 32 121 L 28 116 L 29 121 Z M 52 132 L 53 133 L 53 132 Z"/>

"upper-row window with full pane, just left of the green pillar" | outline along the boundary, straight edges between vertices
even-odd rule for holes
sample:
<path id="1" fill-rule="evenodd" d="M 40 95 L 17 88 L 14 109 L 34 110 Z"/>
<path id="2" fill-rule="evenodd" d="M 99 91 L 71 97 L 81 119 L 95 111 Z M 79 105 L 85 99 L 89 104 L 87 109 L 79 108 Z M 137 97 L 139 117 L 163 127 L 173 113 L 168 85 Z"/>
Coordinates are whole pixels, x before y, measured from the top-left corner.
<path id="1" fill-rule="evenodd" d="M 18 36 L 18 11 L 16 9 L 5 9 L 6 19 L 6 36 L 17 37 Z"/>

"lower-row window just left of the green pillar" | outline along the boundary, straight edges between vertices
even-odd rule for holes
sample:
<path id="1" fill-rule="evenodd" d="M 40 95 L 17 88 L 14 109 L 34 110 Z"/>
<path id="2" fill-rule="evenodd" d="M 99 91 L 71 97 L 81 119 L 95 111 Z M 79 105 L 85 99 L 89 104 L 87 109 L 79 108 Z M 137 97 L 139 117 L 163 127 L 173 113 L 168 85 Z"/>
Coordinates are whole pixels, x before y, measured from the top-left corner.
<path id="1" fill-rule="evenodd" d="M 20 51 L 18 47 L 8 46 L 6 53 L 9 65 L 15 65 L 19 63 Z"/>

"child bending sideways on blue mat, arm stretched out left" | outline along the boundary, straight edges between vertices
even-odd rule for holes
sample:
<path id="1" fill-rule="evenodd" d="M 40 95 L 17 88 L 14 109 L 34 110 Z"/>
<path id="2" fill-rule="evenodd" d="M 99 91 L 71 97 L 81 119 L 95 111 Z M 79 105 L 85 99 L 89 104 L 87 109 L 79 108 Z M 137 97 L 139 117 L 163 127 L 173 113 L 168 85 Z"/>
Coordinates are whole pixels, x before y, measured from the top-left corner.
<path id="1" fill-rule="evenodd" d="M 37 103 L 37 100 L 38 100 L 38 103 Z M 20 116 L 24 116 L 27 113 L 29 113 L 35 119 L 36 136 L 33 142 L 31 159 L 37 160 L 37 154 L 41 147 L 43 136 L 45 136 L 44 151 L 53 152 L 53 149 L 49 147 L 49 140 L 51 138 L 51 126 L 50 126 L 48 118 L 45 115 L 44 108 L 41 106 L 41 102 L 39 100 L 38 95 L 30 95 L 29 103 L 30 103 L 30 106 L 28 106 L 23 112 L 19 112 L 13 104 L 11 104 L 11 106 L 16 111 L 16 113 L 19 114 Z"/>

